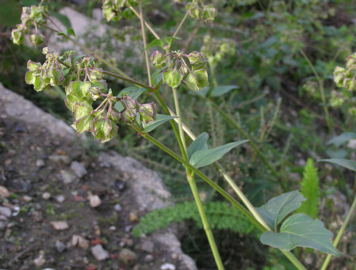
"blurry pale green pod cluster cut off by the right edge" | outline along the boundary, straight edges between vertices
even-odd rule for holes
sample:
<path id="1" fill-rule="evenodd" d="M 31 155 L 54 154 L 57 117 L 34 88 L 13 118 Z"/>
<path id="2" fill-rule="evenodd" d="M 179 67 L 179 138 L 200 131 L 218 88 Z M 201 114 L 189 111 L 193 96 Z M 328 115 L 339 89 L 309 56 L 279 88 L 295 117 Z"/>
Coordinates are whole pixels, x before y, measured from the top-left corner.
<path id="1" fill-rule="evenodd" d="M 346 58 L 346 69 L 337 66 L 334 70 L 334 82 L 337 87 L 345 87 L 348 91 L 356 89 L 356 53 Z"/>

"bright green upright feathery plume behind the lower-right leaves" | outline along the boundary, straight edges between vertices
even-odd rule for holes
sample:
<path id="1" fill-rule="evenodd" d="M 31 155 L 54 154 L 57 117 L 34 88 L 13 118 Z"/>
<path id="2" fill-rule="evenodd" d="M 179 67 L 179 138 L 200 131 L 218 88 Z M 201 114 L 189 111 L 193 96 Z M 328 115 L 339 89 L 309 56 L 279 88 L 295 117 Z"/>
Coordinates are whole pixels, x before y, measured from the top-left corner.
<path id="1" fill-rule="evenodd" d="M 300 193 L 307 199 L 297 209 L 298 213 L 305 213 L 312 218 L 319 214 L 319 178 L 318 168 L 315 168 L 312 158 L 308 158 L 304 166 L 303 179 L 300 183 Z"/>

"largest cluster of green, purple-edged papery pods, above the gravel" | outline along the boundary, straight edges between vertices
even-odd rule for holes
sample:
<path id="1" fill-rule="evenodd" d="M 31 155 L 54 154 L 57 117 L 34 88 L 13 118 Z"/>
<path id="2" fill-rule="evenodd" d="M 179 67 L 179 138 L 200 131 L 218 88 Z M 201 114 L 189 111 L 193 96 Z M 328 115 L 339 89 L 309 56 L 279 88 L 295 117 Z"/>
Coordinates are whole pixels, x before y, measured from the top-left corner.
<path id="1" fill-rule="evenodd" d="M 116 97 L 108 91 L 106 80 L 103 79 L 103 70 L 95 67 L 99 63 L 94 54 L 72 57 L 74 52 L 68 51 L 64 55 L 46 48 L 43 54 L 46 61 L 43 65 L 31 60 L 27 63 L 26 83 L 32 84 L 36 91 L 48 90 L 50 86 L 62 85 L 66 89 L 65 104 L 74 113 L 75 121 L 72 127 L 77 134 L 90 131 L 94 139 L 106 142 L 114 137 L 119 120 L 122 123 L 134 123 L 136 114 L 140 120 L 150 123 L 156 120 L 157 106 L 154 102 L 140 104 L 130 96 Z M 64 58 L 66 59 L 62 61 Z M 105 92 L 108 92 L 107 94 Z M 94 109 L 92 104 L 97 99 L 103 102 Z M 124 112 L 114 109 L 113 104 L 120 101 Z"/>

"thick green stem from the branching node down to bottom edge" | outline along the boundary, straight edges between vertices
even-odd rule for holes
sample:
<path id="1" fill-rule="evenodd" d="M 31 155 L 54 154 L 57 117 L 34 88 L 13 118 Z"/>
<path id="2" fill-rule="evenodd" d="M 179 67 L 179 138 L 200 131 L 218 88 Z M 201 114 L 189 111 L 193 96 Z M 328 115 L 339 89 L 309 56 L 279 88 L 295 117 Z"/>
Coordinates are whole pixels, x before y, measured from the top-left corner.
<path id="1" fill-rule="evenodd" d="M 204 211 L 203 203 L 200 200 L 197 184 L 194 181 L 194 174 L 187 175 L 187 180 L 188 180 L 190 189 L 192 190 L 195 204 L 197 204 L 199 215 L 200 215 L 201 221 L 203 222 L 203 228 L 206 233 L 206 237 L 208 237 L 208 241 L 210 244 L 211 251 L 213 252 L 216 266 L 218 266 L 218 270 L 224 270 L 224 265 L 223 265 L 223 262 L 221 261 L 221 257 L 220 257 L 219 251 L 218 251 L 218 247 L 216 246 L 213 232 L 211 231 L 208 217 L 206 216 L 206 213 Z"/>

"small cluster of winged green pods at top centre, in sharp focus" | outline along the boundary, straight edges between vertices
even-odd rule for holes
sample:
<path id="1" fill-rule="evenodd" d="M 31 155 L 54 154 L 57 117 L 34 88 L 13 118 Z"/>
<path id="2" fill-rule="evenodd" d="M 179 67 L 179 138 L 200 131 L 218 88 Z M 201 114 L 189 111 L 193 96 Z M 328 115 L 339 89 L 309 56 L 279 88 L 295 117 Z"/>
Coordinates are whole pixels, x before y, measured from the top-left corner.
<path id="1" fill-rule="evenodd" d="M 206 65 L 208 58 L 205 54 L 199 52 L 183 54 L 178 50 L 166 55 L 157 50 L 151 55 L 150 59 L 156 69 L 161 69 L 166 66 L 166 62 L 168 61 L 167 56 L 172 54 L 176 63 L 173 69 L 162 72 L 164 83 L 176 89 L 183 81 L 193 91 L 203 90 L 204 86 L 209 85 L 208 66 Z M 185 63 L 183 57 L 188 58 L 191 68 Z M 180 63 L 179 68 L 178 63 Z"/>

